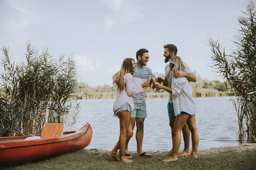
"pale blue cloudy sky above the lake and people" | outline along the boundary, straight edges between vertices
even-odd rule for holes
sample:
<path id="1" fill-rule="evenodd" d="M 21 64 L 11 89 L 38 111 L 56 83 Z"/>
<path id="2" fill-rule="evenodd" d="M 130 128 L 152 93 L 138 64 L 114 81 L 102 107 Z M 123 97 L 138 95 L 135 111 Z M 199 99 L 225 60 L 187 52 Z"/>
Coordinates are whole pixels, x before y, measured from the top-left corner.
<path id="1" fill-rule="evenodd" d="M 228 52 L 235 48 L 247 0 L 0 0 L 0 47 L 12 61 L 24 60 L 26 42 L 56 58 L 73 54 L 81 82 L 112 84 L 123 59 L 149 51 L 148 67 L 164 73 L 163 45 L 177 45 L 192 71 L 221 80 L 212 63 L 208 39 Z M 0 58 L 3 54 L 0 53 Z"/>

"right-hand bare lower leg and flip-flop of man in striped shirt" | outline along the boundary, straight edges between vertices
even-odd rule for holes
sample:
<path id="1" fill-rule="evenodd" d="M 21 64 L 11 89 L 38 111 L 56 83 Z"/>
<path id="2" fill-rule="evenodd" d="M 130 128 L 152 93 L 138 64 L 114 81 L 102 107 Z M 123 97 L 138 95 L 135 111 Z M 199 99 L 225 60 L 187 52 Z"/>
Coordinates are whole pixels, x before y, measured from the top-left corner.
<path id="1" fill-rule="evenodd" d="M 142 142 L 144 135 L 144 120 L 145 118 L 136 118 L 136 141 L 137 141 L 137 156 L 140 156 L 144 151 L 142 150 Z M 144 156 L 151 156 L 151 154 L 145 153 Z"/>

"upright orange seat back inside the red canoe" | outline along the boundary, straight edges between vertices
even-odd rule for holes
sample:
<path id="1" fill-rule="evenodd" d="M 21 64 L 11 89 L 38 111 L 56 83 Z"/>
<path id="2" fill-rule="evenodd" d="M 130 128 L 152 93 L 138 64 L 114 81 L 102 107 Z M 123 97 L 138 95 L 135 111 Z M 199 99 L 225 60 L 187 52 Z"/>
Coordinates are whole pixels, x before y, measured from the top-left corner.
<path id="1" fill-rule="evenodd" d="M 64 123 L 46 123 L 41 133 L 41 139 L 63 135 Z"/>

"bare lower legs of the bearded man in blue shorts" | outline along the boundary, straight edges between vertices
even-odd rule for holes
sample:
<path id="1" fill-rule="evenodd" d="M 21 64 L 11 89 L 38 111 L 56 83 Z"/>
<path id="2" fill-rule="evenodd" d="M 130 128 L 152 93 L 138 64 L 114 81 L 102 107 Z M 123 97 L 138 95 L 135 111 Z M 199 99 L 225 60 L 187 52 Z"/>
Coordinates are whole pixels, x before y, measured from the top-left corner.
<path id="1" fill-rule="evenodd" d="M 176 117 L 169 118 L 169 125 L 170 125 L 171 130 L 172 130 L 172 146 L 173 146 L 173 138 L 174 138 L 173 128 L 174 128 L 174 124 L 175 124 L 175 118 Z M 184 127 L 182 128 L 182 134 L 183 134 L 183 140 L 184 140 L 184 150 L 178 156 L 186 156 L 186 155 L 189 154 L 190 132 L 189 132 L 189 127 L 188 127 L 187 124 L 185 124 Z M 172 150 L 170 150 L 169 152 L 167 152 L 164 155 L 171 156 L 172 155 Z"/>

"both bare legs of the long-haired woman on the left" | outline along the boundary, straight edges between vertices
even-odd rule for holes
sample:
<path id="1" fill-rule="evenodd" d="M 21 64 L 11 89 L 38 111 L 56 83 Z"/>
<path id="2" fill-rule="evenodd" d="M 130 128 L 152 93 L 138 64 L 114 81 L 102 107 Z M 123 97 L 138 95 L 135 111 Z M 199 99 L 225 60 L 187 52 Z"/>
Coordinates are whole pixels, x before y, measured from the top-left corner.
<path id="1" fill-rule="evenodd" d="M 110 153 L 108 153 L 108 156 L 111 156 L 112 158 L 119 160 L 123 163 L 131 163 L 133 161 L 127 159 L 125 157 L 125 143 L 126 143 L 126 136 L 128 135 L 129 127 L 131 126 L 131 112 L 123 111 L 119 112 L 119 124 L 120 124 L 120 136 L 119 141 L 116 143 L 116 146 L 111 150 Z M 132 129 L 130 127 L 130 129 Z M 116 152 L 119 149 L 119 157 L 116 156 Z"/>

